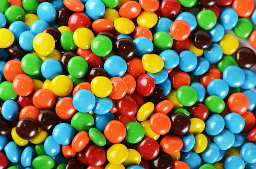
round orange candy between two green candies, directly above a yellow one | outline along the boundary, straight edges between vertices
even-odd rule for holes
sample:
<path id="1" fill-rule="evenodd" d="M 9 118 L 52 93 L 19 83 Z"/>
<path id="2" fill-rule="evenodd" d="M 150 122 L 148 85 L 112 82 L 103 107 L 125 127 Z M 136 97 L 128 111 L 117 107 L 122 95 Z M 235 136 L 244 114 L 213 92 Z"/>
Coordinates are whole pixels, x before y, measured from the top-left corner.
<path id="1" fill-rule="evenodd" d="M 112 120 L 106 125 L 104 135 L 110 142 L 119 143 L 125 138 L 126 128 L 122 122 Z"/>

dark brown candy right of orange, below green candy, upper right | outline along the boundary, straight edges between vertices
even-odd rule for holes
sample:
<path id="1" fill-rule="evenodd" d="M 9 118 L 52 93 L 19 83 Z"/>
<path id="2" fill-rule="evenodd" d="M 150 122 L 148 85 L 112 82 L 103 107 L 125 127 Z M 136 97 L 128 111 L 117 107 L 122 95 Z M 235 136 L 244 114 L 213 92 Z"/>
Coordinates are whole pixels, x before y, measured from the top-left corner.
<path id="1" fill-rule="evenodd" d="M 199 29 L 194 32 L 192 42 L 199 49 L 206 49 L 211 45 L 211 36 L 207 30 Z"/>

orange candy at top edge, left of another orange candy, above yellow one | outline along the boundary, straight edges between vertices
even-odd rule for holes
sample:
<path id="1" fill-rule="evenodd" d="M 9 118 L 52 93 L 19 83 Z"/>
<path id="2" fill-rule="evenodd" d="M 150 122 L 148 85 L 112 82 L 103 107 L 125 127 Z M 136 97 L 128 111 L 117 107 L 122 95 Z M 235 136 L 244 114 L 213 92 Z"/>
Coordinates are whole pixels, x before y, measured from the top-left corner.
<path id="1" fill-rule="evenodd" d="M 140 4 L 136 1 L 129 0 L 124 2 L 119 8 L 119 14 L 121 17 L 126 17 L 133 19 L 140 14 L 141 7 Z"/>

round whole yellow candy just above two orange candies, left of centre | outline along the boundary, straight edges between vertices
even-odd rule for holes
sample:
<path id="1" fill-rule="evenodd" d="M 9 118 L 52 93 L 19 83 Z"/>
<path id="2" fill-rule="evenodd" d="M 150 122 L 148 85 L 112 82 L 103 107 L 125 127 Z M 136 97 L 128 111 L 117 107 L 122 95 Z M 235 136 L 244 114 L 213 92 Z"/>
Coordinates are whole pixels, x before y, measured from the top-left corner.
<path id="1" fill-rule="evenodd" d="M 64 97 L 71 93 L 73 81 L 66 75 L 57 75 L 51 82 L 51 90 L 54 94 Z"/>

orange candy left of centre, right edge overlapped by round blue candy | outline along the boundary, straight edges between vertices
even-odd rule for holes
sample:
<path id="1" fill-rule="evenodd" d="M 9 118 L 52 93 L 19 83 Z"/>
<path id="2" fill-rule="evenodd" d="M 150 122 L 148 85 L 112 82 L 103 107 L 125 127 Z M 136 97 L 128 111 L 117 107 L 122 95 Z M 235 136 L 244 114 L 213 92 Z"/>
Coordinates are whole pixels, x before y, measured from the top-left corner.
<path id="1" fill-rule="evenodd" d="M 70 119 L 77 112 L 72 101 L 73 98 L 63 97 L 57 102 L 55 110 L 61 119 Z"/>

